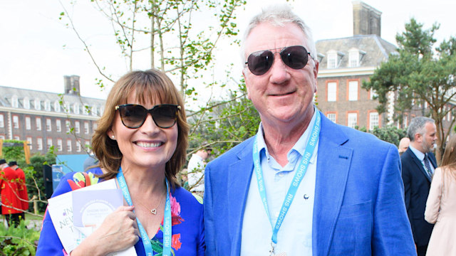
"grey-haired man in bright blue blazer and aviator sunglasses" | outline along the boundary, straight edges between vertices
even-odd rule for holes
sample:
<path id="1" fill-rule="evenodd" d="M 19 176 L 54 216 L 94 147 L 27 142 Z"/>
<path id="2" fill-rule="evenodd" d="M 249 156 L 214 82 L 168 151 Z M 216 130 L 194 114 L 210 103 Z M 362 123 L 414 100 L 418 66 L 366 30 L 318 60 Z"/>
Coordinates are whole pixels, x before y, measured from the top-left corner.
<path id="1" fill-rule="evenodd" d="M 261 124 L 207 164 L 206 255 L 415 255 L 398 149 L 316 110 L 318 60 L 304 21 L 271 7 L 243 43 Z"/>

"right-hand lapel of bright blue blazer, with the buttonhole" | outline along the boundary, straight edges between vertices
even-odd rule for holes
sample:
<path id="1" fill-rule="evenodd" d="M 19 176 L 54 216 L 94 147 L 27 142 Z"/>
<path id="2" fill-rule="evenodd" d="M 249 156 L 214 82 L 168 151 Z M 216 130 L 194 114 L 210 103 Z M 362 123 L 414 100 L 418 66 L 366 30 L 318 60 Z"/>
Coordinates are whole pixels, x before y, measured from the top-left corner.
<path id="1" fill-rule="evenodd" d="M 341 146 L 348 141 L 345 134 L 323 114 L 321 117 L 312 224 L 314 255 L 328 255 L 353 155 L 352 149 Z"/>

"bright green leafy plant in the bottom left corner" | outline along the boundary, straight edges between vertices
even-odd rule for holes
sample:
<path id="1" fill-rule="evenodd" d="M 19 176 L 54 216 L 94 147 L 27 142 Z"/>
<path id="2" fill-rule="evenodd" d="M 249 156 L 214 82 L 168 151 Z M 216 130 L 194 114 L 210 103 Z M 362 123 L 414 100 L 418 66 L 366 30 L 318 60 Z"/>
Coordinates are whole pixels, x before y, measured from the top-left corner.
<path id="1" fill-rule="evenodd" d="M 6 228 L 3 223 L 0 225 L 0 256 L 28 256 L 35 255 L 35 242 L 38 241 L 40 233 L 35 228 L 26 228 L 29 220 L 21 220 L 17 226 Z"/>

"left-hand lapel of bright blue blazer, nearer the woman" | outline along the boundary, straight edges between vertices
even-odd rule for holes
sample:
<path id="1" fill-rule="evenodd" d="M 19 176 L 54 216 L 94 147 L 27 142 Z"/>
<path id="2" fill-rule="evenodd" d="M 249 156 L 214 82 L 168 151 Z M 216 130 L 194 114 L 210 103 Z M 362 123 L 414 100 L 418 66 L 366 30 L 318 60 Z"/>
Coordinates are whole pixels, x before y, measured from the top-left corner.
<path id="1" fill-rule="evenodd" d="M 242 221 L 254 169 L 252 158 L 254 138 L 252 137 L 247 140 L 247 143 L 244 143 L 244 147 L 237 152 L 239 161 L 235 161 L 229 166 L 227 207 L 229 236 L 232 239 L 231 255 L 240 255 L 241 253 Z"/>

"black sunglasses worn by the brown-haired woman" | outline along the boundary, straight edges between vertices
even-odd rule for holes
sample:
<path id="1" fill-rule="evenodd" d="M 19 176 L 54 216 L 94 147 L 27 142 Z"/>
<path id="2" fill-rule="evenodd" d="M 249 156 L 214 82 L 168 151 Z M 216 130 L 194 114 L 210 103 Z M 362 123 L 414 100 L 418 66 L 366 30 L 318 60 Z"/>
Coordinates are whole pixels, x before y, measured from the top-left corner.
<path id="1" fill-rule="evenodd" d="M 180 106 L 162 104 L 147 110 L 141 105 L 125 104 L 115 106 L 115 110 L 119 110 L 123 125 L 131 129 L 141 127 L 147 119 L 147 113 L 150 113 L 157 127 L 170 128 L 176 123 L 177 111 L 180 110 Z"/>

